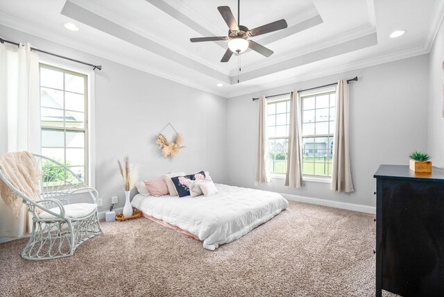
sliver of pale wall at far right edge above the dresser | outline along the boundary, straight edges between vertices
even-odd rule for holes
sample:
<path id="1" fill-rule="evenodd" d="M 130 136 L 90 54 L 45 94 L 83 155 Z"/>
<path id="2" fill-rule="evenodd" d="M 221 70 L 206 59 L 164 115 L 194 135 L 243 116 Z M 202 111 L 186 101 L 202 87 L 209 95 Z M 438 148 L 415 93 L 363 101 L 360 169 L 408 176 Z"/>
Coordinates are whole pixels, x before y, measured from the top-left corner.
<path id="1" fill-rule="evenodd" d="M 429 54 L 429 137 L 427 149 L 436 167 L 444 167 L 444 117 L 441 109 L 444 100 L 444 22 L 436 35 Z"/>

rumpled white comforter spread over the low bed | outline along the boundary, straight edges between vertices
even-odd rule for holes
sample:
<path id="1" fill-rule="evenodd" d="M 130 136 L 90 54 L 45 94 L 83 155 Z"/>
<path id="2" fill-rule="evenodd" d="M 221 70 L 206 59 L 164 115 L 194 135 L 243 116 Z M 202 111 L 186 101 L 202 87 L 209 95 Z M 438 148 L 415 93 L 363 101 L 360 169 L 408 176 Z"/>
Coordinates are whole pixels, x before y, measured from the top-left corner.
<path id="1" fill-rule="evenodd" d="M 211 251 L 246 235 L 289 206 L 278 193 L 222 184 L 216 187 L 219 193 L 208 197 L 137 194 L 131 205 L 196 235 L 203 247 Z"/>

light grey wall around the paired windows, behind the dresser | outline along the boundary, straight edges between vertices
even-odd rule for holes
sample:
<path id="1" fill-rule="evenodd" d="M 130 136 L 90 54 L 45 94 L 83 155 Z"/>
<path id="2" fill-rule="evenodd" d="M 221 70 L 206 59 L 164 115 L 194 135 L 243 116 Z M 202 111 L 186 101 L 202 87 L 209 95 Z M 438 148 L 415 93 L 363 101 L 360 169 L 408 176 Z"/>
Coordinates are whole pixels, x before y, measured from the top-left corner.
<path id="1" fill-rule="evenodd" d="M 253 102 L 253 97 L 302 90 L 355 76 L 359 81 L 350 83 L 350 158 L 355 192 L 332 192 L 330 184 L 316 182 L 305 182 L 305 187 L 293 189 L 284 187 L 284 180 L 277 178 L 257 188 L 375 206 L 373 174 L 379 164 L 408 164 L 411 151 L 427 148 L 428 55 L 229 99 L 229 183 L 255 187 L 258 101 Z"/>

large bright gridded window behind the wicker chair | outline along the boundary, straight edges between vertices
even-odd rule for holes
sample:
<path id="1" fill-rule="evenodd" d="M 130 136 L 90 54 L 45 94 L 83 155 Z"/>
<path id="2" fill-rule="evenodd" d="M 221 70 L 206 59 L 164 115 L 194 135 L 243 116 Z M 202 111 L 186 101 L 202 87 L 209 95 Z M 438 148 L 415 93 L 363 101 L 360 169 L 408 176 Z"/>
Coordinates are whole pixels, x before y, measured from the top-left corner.
<path id="1" fill-rule="evenodd" d="M 40 64 L 42 155 L 65 164 L 86 184 L 87 81 L 85 74 Z"/>

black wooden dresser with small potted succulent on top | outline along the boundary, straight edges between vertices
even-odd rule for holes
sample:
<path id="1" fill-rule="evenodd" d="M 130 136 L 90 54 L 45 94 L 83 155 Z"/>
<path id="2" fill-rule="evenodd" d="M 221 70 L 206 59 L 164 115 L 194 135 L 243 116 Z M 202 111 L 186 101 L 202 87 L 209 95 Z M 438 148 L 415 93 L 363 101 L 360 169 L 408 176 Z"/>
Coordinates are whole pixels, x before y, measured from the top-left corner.
<path id="1" fill-rule="evenodd" d="M 444 296 L 444 169 L 376 171 L 376 296 Z"/>

